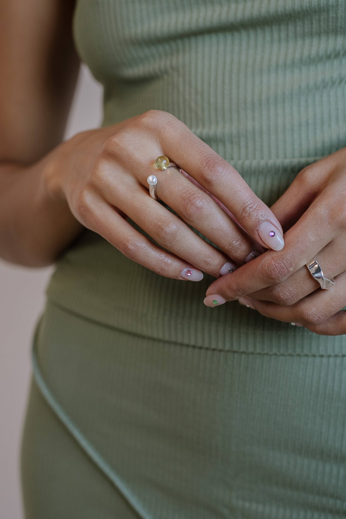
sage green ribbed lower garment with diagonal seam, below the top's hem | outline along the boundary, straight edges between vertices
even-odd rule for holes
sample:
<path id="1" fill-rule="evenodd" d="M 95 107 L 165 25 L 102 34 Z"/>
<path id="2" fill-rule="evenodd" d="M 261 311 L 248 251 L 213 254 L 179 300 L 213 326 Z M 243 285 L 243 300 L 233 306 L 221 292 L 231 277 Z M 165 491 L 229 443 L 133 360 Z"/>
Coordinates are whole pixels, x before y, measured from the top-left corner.
<path id="1" fill-rule="evenodd" d="M 29 519 L 346 515 L 346 357 L 194 348 L 49 303 L 22 473 Z"/>

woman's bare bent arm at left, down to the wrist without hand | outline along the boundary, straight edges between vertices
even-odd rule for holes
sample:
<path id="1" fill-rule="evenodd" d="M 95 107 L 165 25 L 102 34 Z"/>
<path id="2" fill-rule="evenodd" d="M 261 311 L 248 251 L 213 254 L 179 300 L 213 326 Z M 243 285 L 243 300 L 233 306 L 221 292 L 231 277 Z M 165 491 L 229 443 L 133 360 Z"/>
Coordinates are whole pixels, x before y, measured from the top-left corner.
<path id="1" fill-rule="evenodd" d="M 0 3 L 0 256 L 54 261 L 82 228 L 43 182 L 62 140 L 78 74 L 71 0 Z"/>

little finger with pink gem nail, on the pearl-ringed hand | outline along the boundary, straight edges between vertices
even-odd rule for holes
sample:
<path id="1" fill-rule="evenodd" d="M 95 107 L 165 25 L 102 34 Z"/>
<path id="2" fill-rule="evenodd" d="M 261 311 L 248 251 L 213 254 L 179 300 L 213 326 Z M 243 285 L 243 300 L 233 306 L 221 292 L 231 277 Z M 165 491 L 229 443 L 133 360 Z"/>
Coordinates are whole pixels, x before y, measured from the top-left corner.
<path id="1" fill-rule="evenodd" d="M 203 279 L 199 269 L 151 242 L 100 197 L 89 197 L 84 207 L 85 216 L 88 211 L 92 215 L 92 230 L 103 236 L 130 260 L 167 278 L 189 281 Z"/>

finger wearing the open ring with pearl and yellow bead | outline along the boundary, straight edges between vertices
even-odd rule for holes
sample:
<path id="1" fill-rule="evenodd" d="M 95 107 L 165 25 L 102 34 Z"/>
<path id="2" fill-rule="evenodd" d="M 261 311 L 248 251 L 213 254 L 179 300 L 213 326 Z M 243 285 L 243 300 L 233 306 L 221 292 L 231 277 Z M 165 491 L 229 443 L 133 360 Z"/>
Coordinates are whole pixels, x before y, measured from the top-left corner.
<path id="1" fill-rule="evenodd" d="M 254 240 L 201 189 L 174 168 L 156 173 L 157 196 L 183 220 L 242 265 L 257 246 Z M 145 186 L 146 187 L 146 186 Z"/>

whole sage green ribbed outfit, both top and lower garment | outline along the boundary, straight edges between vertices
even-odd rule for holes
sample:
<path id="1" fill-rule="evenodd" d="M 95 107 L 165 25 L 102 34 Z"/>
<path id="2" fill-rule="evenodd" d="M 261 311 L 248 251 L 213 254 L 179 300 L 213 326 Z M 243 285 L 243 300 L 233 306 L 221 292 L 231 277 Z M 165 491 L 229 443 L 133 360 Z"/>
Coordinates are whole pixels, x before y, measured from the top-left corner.
<path id="1" fill-rule="evenodd" d="M 268 204 L 346 144 L 344 0 L 78 0 L 74 33 L 104 125 L 170 112 Z M 346 336 L 207 308 L 211 281 L 88 230 L 63 255 L 35 339 L 27 519 L 346 516 Z"/>

